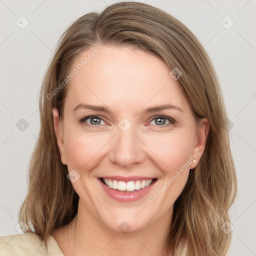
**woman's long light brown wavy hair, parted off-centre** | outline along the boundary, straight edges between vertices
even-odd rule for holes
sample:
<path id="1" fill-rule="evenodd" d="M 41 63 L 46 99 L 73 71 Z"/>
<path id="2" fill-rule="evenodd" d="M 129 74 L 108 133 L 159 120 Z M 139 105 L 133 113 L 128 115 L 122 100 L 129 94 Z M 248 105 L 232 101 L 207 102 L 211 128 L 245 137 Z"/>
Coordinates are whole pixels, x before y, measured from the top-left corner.
<path id="1" fill-rule="evenodd" d="M 31 155 L 28 193 L 19 221 L 30 225 L 42 240 L 77 213 L 78 195 L 67 166 L 62 164 L 54 133 L 52 108 L 60 118 L 68 83 L 56 91 L 70 73 L 77 56 L 95 45 L 135 46 L 157 55 L 171 69 L 178 67 L 178 83 L 196 118 L 206 117 L 209 132 L 204 152 L 174 203 L 166 246 L 178 255 L 225 255 L 231 234 L 221 230 L 236 194 L 236 177 L 230 151 L 227 115 L 212 63 L 193 33 L 170 14 L 139 2 L 119 2 L 101 13 L 79 17 L 61 35 L 45 73 L 39 99 L 40 132 Z M 55 90 L 55 93 L 52 93 Z M 50 95 L 50 96 L 49 96 Z"/>

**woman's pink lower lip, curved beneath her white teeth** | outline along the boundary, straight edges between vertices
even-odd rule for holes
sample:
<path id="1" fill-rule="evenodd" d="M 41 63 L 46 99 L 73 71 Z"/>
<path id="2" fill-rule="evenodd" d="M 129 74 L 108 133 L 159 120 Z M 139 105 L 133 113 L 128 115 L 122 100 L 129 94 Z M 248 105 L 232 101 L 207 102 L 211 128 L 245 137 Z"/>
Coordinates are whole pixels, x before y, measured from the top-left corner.
<path id="1" fill-rule="evenodd" d="M 112 188 L 108 187 L 107 185 L 105 185 L 104 183 L 102 183 L 102 181 L 100 179 L 98 179 L 98 180 L 99 180 L 100 184 L 102 185 L 103 189 L 105 190 L 105 192 L 110 197 L 112 197 L 113 199 L 115 199 L 117 201 L 121 201 L 121 202 L 133 202 L 133 201 L 140 199 L 141 197 L 143 197 L 150 191 L 150 189 L 152 188 L 152 186 L 154 185 L 154 183 L 156 181 L 156 180 L 153 181 L 149 186 L 146 186 L 143 189 L 126 192 L 126 191 L 119 191 L 118 189 L 112 189 Z"/>

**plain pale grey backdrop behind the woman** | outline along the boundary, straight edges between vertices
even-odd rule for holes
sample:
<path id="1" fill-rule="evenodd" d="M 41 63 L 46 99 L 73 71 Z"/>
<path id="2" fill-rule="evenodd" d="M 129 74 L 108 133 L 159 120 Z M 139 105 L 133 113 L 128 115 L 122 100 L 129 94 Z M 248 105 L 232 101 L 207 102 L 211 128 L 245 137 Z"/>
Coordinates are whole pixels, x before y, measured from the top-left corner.
<path id="1" fill-rule="evenodd" d="M 0 235 L 19 233 L 27 167 L 39 131 L 38 93 L 62 32 L 110 0 L 0 0 Z M 256 255 L 255 0 L 143 0 L 184 23 L 210 56 L 228 114 L 238 191 L 228 255 Z"/>

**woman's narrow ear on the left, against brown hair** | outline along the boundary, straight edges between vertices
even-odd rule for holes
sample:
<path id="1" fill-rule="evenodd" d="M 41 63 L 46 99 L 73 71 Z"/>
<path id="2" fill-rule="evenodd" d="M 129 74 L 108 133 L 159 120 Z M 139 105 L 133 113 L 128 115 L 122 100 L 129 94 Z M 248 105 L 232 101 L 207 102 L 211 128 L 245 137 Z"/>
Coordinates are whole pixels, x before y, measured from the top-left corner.
<path id="1" fill-rule="evenodd" d="M 61 157 L 61 162 L 63 164 L 67 164 L 65 150 L 64 150 L 64 141 L 63 141 L 63 129 L 62 129 L 63 127 L 59 120 L 59 114 L 58 114 L 57 108 L 55 107 L 52 108 L 52 115 L 53 115 L 53 122 L 54 122 L 54 131 L 56 135 L 58 150 Z"/>

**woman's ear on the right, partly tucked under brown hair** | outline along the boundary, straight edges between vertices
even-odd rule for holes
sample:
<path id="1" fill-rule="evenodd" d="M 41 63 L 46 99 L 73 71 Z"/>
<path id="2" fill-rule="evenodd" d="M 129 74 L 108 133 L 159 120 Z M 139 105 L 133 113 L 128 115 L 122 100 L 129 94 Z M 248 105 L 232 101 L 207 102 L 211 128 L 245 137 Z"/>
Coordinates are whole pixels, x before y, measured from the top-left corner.
<path id="1" fill-rule="evenodd" d="M 193 169 L 197 165 L 202 156 L 208 132 L 209 122 L 207 118 L 201 118 L 197 123 L 197 132 L 195 134 L 194 145 L 190 155 L 190 159 L 192 161 L 189 165 L 190 169 Z"/>

